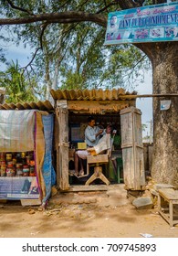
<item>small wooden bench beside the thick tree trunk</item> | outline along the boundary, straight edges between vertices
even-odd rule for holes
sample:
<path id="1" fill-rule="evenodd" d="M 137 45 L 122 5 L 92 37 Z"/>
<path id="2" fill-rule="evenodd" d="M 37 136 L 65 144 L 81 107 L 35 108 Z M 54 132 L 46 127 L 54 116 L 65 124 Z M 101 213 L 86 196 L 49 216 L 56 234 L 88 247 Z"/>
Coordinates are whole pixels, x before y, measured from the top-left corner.
<path id="1" fill-rule="evenodd" d="M 170 227 L 173 227 L 174 224 L 178 224 L 178 211 L 176 212 L 173 208 L 173 206 L 178 205 L 178 190 L 162 188 L 158 192 L 159 213 L 170 224 Z M 167 206 L 165 206 L 165 203 L 167 203 Z"/>

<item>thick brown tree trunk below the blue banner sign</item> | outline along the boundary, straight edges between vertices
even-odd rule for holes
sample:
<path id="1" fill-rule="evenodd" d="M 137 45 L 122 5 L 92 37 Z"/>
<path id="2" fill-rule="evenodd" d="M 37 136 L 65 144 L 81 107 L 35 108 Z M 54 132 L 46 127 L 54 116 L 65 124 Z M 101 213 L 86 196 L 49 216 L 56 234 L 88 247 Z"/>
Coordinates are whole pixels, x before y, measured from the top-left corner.
<path id="1" fill-rule="evenodd" d="M 152 61 L 153 94 L 177 93 L 178 42 L 140 46 Z M 162 100 L 171 100 L 168 110 Z M 178 97 L 153 98 L 152 179 L 178 188 Z"/>

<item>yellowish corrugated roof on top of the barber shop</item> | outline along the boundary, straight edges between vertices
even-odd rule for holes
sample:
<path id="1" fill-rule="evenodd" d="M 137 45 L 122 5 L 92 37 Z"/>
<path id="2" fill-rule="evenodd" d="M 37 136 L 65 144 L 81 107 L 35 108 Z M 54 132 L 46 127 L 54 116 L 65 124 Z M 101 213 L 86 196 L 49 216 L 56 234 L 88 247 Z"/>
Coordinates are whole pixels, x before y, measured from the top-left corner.
<path id="1" fill-rule="evenodd" d="M 127 100 L 130 100 L 129 95 L 137 94 L 136 91 L 128 92 L 122 88 L 112 90 L 51 90 L 50 93 L 54 100 L 68 101 L 118 101 L 123 100 L 123 96 L 127 96 Z"/>

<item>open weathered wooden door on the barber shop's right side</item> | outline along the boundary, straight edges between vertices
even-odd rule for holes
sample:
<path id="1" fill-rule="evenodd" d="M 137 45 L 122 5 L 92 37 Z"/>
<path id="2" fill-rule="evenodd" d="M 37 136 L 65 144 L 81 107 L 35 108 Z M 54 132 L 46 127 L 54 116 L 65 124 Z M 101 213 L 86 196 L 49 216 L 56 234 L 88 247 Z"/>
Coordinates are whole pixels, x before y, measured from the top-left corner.
<path id="1" fill-rule="evenodd" d="M 134 107 L 120 111 L 120 124 L 125 187 L 141 190 L 145 186 L 141 112 Z"/>

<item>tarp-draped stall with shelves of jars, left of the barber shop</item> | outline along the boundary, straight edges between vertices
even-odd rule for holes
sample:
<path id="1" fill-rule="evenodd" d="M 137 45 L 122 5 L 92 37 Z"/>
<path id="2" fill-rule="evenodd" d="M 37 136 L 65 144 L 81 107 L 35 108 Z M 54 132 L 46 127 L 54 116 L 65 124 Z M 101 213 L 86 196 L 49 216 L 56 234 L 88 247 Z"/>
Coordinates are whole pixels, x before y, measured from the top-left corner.
<path id="1" fill-rule="evenodd" d="M 0 105 L 0 199 L 46 204 L 56 184 L 49 101 Z"/>

